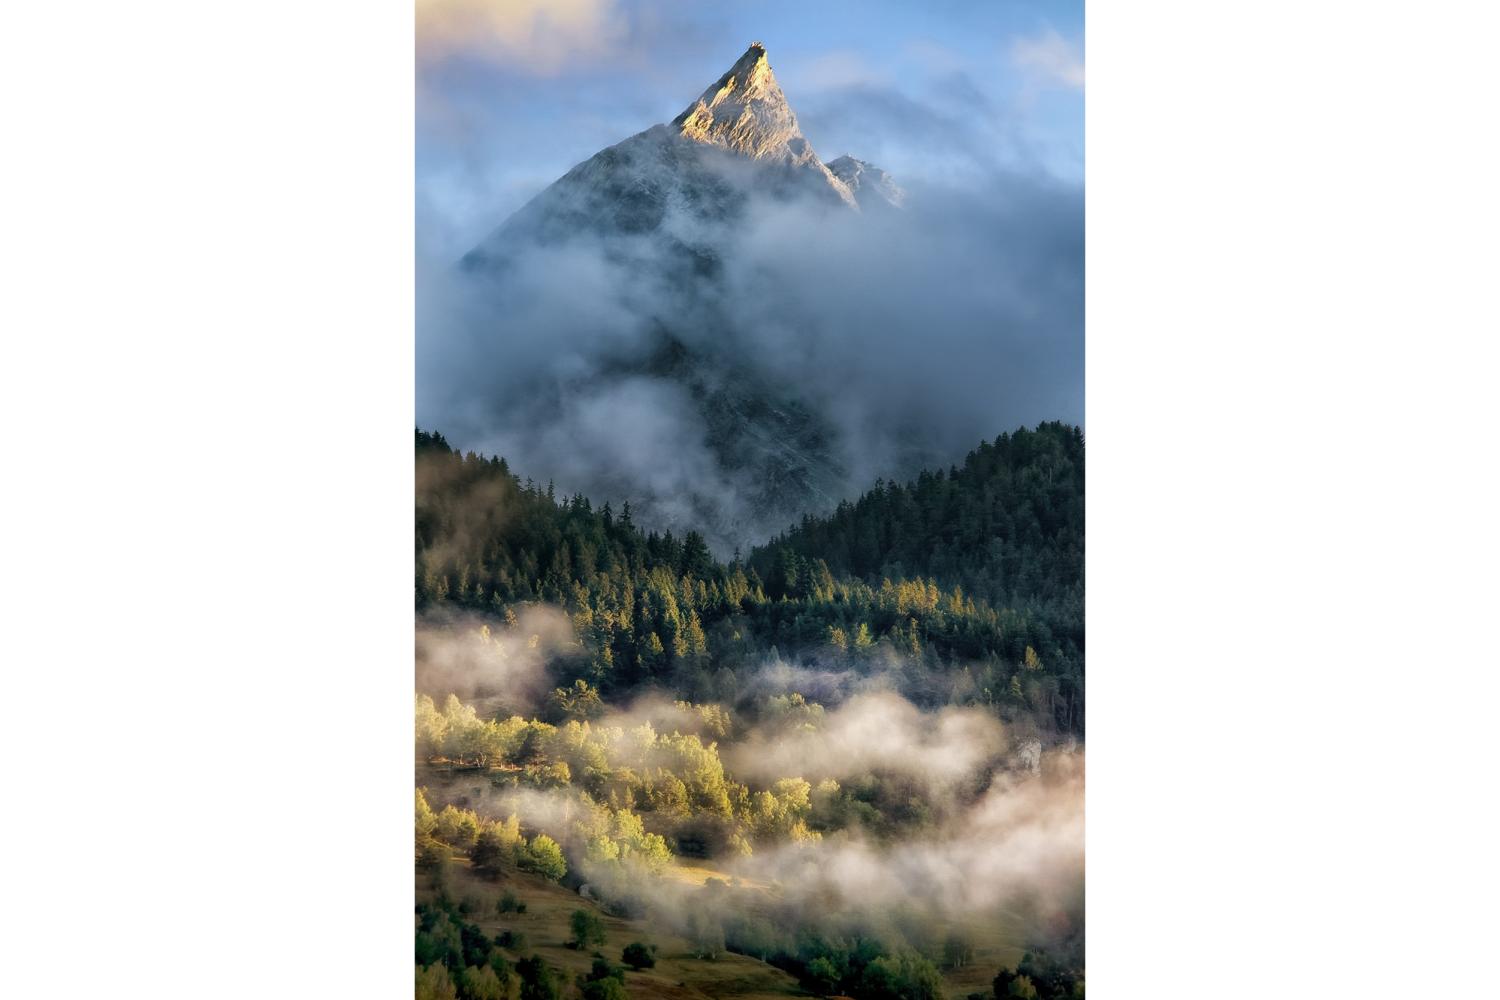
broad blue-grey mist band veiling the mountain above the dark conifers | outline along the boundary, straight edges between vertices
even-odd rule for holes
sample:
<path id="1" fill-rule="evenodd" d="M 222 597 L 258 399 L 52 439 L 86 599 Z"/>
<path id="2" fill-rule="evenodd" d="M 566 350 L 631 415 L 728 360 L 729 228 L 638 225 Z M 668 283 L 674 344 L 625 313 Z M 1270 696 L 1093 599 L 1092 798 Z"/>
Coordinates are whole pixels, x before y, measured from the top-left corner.
<path id="1" fill-rule="evenodd" d="M 736 448 L 798 469 L 816 511 L 1082 423 L 1082 189 L 996 174 L 862 213 L 752 196 L 716 240 L 670 208 L 644 237 L 522 243 L 495 274 L 422 261 L 418 424 L 726 556 L 810 513 Z"/>

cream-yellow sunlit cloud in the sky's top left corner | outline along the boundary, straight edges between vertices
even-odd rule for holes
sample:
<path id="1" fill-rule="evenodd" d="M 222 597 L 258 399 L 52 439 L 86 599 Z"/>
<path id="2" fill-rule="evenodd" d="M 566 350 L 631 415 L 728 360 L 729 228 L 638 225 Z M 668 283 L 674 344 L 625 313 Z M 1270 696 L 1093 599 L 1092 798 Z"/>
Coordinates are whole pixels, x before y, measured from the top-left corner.
<path id="1" fill-rule="evenodd" d="M 454 55 L 554 73 L 622 34 L 615 0 L 417 0 L 417 64 Z"/>

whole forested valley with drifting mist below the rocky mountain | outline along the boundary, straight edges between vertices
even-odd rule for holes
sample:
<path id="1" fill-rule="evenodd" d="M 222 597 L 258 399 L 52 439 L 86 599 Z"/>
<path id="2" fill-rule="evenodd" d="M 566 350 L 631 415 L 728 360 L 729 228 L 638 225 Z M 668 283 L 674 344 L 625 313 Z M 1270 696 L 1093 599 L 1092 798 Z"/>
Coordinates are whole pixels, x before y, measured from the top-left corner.
<path id="1" fill-rule="evenodd" d="M 728 559 L 440 433 L 416 484 L 418 997 L 654 996 L 464 912 L 542 883 L 789 996 L 1083 996 L 1077 427 Z"/>

